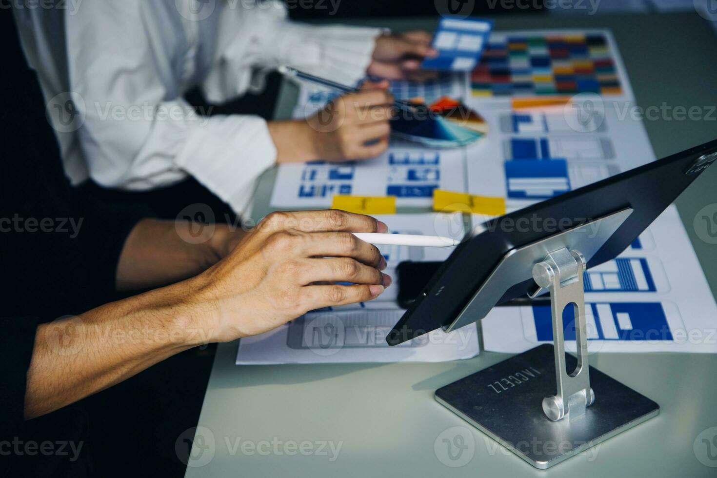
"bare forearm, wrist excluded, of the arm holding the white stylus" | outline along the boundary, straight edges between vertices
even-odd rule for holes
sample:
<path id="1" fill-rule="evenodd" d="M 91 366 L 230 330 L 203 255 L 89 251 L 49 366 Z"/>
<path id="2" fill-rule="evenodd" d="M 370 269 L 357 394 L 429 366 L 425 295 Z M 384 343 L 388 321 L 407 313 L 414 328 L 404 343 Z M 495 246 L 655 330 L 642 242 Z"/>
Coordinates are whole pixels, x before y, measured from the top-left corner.
<path id="1" fill-rule="evenodd" d="M 37 328 L 27 372 L 25 416 L 32 419 L 129 378 L 209 340 L 186 281 Z"/>

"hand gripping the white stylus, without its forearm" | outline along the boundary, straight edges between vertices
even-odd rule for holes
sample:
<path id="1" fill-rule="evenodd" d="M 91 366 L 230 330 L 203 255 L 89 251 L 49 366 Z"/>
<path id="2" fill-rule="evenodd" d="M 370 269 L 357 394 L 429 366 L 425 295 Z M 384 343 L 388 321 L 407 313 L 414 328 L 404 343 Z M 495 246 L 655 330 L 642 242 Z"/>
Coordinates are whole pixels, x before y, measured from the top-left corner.
<path id="1" fill-rule="evenodd" d="M 367 302 L 391 284 L 386 260 L 351 232 L 386 232 L 345 211 L 272 213 L 232 254 L 196 278 L 212 341 L 264 333 L 321 307 Z M 337 285 L 350 282 L 354 285 Z"/>

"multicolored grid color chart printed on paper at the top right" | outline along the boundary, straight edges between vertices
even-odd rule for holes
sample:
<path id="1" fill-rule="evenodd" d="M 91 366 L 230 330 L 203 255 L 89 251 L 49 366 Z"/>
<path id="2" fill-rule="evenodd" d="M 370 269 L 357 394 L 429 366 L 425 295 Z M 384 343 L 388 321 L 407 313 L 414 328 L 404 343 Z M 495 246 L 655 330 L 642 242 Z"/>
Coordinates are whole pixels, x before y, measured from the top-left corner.
<path id="1" fill-rule="evenodd" d="M 470 84 L 477 97 L 623 93 L 602 33 L 491 37 Z"/>

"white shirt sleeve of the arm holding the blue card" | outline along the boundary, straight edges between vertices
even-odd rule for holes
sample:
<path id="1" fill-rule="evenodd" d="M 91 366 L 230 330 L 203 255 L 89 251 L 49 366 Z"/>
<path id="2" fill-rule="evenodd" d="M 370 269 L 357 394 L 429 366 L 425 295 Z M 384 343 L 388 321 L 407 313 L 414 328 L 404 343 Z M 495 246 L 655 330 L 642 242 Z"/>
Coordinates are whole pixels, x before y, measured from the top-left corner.
<path id="1" fill-rule="evenodd" d="M 366 76 L 376 37 L 385 29 L 301 24 L 288 19 L 281 1 L 261 7 L 226 4 L 219 20 L 217 57 L 204 80 L 206 96 L 223 101 L 260 88 L 267 71 L 289 64 L 346 85 Z"/>

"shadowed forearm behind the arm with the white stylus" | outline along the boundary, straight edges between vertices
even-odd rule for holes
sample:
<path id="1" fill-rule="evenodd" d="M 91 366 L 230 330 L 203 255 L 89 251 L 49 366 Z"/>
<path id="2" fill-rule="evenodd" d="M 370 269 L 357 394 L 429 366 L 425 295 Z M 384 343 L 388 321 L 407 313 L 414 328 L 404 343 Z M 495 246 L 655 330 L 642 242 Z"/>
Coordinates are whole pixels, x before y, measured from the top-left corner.
<path id="1" fill-rule="evenodd" d="M 193 277 L 227 255 L 243 235 L 227 224 L 144 219 L 125 241 L 117 289 L 146 290 Z"/>

